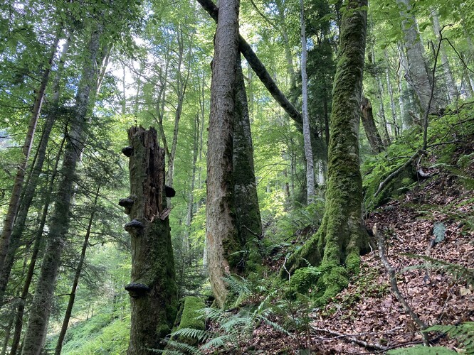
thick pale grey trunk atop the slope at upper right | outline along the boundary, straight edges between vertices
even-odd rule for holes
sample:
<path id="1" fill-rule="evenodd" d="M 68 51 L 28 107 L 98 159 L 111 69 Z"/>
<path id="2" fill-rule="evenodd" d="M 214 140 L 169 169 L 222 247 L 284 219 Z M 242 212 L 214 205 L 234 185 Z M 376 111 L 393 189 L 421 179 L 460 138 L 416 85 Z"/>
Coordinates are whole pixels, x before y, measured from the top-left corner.
<path id="1" fill-rule="evenodd" d="M 431 79 L 428 75 L 426 62 L 423 58 L 424 50 L 421 37 L 418 33 L 416 18 L 411 14 L 411 4 L 409 0 L 396 0 L 401 4 L 401 25 L 404 33 L 404 48 L 406 53 L 407 71 L 406 80 L 416 92 L 418 108 L 421 114 L 426 110 L 432 111 L 434 107 L 428 107 L 431 96 Z"/>

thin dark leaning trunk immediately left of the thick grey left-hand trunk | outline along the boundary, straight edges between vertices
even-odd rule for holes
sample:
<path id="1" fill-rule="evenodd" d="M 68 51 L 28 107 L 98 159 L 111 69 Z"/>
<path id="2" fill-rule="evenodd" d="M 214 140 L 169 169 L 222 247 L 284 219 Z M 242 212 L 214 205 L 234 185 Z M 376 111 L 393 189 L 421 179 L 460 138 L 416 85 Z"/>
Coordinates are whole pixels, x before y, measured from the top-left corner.
<path id="1" fill-rule="evenodd" d="M 31 280 L 33 280 L 33 275 L 35 271 L 36 260 L 38 258 L 41 242 L 43 241 L 43 230 L 46 224 L 46 217 L 48 216 L 49 202 L 51 200 L 51 195 L 53 194 L 54 182 L 56 180 L 56 175 L 58 173 L 58 165 L 59 165 L 61 154 L 63 152 L 65 139 L 66 137 L 64 136 L 63 141 L 61 141 L 60 143 L 58 156 L 56 157 L 56 163 L 51 173 L 51 178 L 48 183 L 48 189 L 46 190 L 46 194 L 45 194 L 46 200 L 43 204 L 43 212 L 41 213 L 41 217 L 39 219 L 40 222 L 39 222 L 38 229 L 36 231 L 35 242 L 33 244 L 33 251 L 31 252 L 30 265 L 28 266 L 28 272 L 26 273 L 26 278 L 23 283 L 23 289 L 21 290 L 18 310 L 16 312 L 15 333 L 14 333 L 13 342 L 11 344 L 10 355 L 16 355 L 17 350 L 19 348 L 20 338 L 21 338 L 21 329 L 23 327 L 23 313 L 25 311 L 26 298 L 28 297 L 28 294 L 29 294 Z"/>

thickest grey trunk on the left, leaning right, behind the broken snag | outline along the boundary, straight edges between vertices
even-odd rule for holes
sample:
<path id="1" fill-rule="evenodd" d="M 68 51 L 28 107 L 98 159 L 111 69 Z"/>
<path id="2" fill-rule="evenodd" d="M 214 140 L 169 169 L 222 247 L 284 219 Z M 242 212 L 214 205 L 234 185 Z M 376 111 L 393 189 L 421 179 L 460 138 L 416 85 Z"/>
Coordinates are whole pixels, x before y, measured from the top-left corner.
<path id="1" fill-rule="evenodd" d="M 75 97 L 75 115 L 70 120 L 68 142 L 65 146 L 63 166 L 60 170 L 58 190 L 54 199 L 54 211 L 51 216 L 45 256 L 36 283 L 28 328 L 21 351 L 23 355 L 40 354 L 46 339 L 46 329 L 54 297 L 60 254 L 69 229 L 75 170 L 85 146 L 83 131 L 87 123 L 89 98 L 97 85 L 97 60 L 101 33 L 102 28 L 100 26 L 92 31 L 88 48 L 85 50 L 83 75 Z"/>

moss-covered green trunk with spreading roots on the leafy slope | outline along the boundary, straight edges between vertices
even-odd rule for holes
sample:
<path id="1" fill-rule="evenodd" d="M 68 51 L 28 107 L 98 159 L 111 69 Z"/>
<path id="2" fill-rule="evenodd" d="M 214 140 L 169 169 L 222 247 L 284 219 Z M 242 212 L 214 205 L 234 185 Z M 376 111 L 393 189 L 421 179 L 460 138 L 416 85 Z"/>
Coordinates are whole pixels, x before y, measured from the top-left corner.
<path id="1" fill-rule="evenodd" d="M 359 271 L 360 253 L 368 245 L 362 222 L 362 177 L 359 170 L 359 121 L 367 31 L 367 0 L 349 0 L 341 24 L 333 86 L 325 215 L 305 246 L 285 268 L 320 265 L 321 301 L 334 296 Z M 282 276 L 288 277 L 285 270 Z"/>

